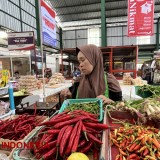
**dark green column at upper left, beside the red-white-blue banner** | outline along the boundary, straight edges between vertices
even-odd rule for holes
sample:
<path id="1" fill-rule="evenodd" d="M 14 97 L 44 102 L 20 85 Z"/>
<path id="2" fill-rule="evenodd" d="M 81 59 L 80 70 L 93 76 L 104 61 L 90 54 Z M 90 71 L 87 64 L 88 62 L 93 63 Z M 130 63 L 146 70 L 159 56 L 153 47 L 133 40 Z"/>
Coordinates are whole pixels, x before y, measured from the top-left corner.
<path id="1" fill-rule="evenodd" d="M 35 5 L 36 5 L 36 28 L 37 28 L 37 46 L 40 46 L 40 22 L 39 22 L 39 0 L 35 0 Z"/>

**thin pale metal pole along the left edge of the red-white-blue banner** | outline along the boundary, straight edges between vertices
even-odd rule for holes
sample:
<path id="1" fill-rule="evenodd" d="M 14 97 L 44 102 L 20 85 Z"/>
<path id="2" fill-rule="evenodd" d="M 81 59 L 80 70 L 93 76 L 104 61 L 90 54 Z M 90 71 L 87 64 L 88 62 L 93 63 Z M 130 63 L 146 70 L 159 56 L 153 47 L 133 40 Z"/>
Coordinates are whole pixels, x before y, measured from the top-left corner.
<path id="1" fill-rule="evenodd" d="M 45 96 L 45 79 L 44 79 L 44 58 L 43 58 L 43 35 L 42 35 L 42 15 L 41 15 L 41 1 L 39 1 L 39 30 L 40 30 L 40 51 L 42 56 L 42 77 L 43 77 L 43 101 L 46 102 Z"/>

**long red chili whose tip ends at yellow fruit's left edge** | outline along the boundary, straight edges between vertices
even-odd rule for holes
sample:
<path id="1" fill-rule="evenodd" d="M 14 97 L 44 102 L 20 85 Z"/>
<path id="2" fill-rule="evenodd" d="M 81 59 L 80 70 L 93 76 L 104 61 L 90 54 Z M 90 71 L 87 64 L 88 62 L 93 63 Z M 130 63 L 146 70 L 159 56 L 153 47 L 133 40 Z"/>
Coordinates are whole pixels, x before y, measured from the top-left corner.
<path id="1" fill-rule="evenodd" d="M 78 121 L 73 128 L 73 131 L 72 131 L 71 136 L 69 138 L 69 144 L 68 144 L 68 147 L 66 149 L 65 155 L 69 155 L 70 152 L 71 152 L 71 149 L 72 149 L 72 146 L 73 146 L 73 143 L 74 143 L 79 125 L 80 125 L 80 121 Z"/>

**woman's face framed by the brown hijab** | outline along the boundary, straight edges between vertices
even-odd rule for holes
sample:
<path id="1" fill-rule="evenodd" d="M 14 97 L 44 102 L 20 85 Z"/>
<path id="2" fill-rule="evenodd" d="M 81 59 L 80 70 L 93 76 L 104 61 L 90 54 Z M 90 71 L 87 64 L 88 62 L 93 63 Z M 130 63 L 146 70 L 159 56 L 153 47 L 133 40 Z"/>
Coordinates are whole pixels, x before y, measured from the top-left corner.
<path id="1" fill-rule="evenodd" d="M 78 62 L 79 69 L 82 74 L 88 75 L 93 71 L 92 64 L 88 61 L 88 59 L 84 56 L 84 54 L 81 51 L 78 53 Z"/>

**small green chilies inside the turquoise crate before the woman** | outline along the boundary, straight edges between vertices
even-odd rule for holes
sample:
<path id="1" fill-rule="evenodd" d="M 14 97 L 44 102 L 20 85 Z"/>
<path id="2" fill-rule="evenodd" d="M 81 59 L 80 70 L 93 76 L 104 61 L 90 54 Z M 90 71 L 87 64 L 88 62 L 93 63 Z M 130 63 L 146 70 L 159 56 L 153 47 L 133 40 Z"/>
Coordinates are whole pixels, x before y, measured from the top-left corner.
<path id="1" fill-rule="evenodd" d="M 70 104 L 66 109 L 70 111 L 80 109 L 93 114 L 99 113 L 99 105 L 97 102 L 73 103 L 73 104 Z"/>

